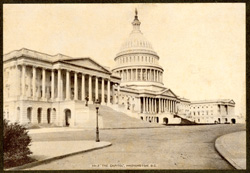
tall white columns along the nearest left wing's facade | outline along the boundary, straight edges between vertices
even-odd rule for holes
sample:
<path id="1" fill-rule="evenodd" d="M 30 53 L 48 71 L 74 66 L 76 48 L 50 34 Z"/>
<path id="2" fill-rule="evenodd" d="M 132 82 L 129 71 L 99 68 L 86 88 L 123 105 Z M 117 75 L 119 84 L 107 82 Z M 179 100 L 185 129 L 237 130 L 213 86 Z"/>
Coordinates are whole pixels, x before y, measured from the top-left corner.
<path id="1" fill-rule="evenodd" d="M 36 95 L 36 68 L 35 66 L 32 66 L 32 94 L 33 94 L 33 99 L 35 98 Z M 57 77 L 57 100 L 61 101 L 62 100 L 62 93 L 63 93 L 63 86 L 62 86 L 62 69 L 57 69 L 58 71 L 58 77 Z M 26 82 L 25 82 L 25 74 L 26 74 L 26 65 L 22 65 L 22 80 L 21 80 L 21 86 L 22 86 L 22 92 L 21 96 L 22 98 L 26 97 Z M 92 76 L 89 75 L 89 102 L 93 102 L 92 100 Z M 82 77 L 82 88 L 81 88 L 81 98 L 84 101 L 85 100 L 85 74 L 81 75 Z M 95 76 L 96 84 L 95 84 L 95 99 L 98 98 L 98 79 L 101 77 Z M 101 87 L 101 100 L 102 103 L 104 103 L 104 78 L 101 78 L 102 80 L 102 87 Z M 42 99 L 45 99 L 45 87 L 46 87 L 46 69 L 42 68 Z M 51 99 L 55 99 L 55 70 L 51 70 Z M 70 71 L 66 70 L 66 100 L 71 100 L 70 98 Z M 78 100 L 78 72 L 74 72 L 74 100 Z M 110 103 L 110 80 L 107 79 L 107 103 Z"/>

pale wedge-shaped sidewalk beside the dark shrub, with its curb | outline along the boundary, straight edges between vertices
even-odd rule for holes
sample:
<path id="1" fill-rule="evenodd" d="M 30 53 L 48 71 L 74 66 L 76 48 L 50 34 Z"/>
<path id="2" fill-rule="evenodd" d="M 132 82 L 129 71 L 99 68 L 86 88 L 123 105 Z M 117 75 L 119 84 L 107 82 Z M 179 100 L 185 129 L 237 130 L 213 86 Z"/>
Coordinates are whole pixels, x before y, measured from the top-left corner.
<path id="1" fill-rule="evenodd" d="M 32 142 L 30 150 L 33 152 L 32 158 L 36 162 L 32 162 L 23 166 L 11 168 L 9 170 L 28 169 L 37 165 L 46 164 L 48 162 L 61 159 L 66 156 L 84 153 L 96 149 L 111 146 L 110 142 L 95 142 L 95 141 L 46 141 Z"/>

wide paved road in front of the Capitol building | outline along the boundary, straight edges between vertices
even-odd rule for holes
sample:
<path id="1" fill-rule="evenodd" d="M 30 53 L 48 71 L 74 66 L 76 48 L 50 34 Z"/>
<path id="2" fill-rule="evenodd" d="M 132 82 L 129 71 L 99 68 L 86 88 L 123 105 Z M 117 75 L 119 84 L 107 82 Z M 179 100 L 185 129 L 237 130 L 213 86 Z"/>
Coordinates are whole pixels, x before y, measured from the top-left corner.
<path id="1" fill-rule="evenodd" d="M 102 130 L 111 147 L 78 154 L 32 170 L 70 169 L 234 169 L 214 147 L 217 137 L 245 130 L 245 125 L 167 126 Z M 34 141 L 94 140 L 94 131 L 33 134 Z"/>

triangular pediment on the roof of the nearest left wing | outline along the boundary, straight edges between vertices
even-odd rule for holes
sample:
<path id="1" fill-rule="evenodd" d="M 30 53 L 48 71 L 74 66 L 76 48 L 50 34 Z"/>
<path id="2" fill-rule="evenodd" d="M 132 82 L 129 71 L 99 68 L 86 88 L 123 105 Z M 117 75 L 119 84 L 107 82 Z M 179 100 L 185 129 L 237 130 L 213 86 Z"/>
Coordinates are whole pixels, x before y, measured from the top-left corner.
<path id="1" fill-rule="evenodd" d="M 63 62 L 67 62 L 69 64 L 74 64 L 77 66 L 82 66 L 85 68 L 91 68 L 91 69 L 102 71 L 105 73 L 110 73 L 109 70 L 107 70 L 105 67 L 103 67 L 99 63 L 95 62 L 91 58 L 67 59 L 67 60 L 63 60 Z"/>

